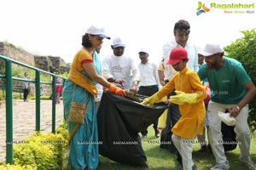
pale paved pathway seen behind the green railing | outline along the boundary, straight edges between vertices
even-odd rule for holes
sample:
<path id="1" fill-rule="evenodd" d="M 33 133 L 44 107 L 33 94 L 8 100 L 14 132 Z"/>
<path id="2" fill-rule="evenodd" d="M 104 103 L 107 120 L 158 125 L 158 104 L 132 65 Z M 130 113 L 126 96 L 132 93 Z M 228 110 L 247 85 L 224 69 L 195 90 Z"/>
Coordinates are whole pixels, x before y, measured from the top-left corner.
<path id="1" fill-rule="evenodd" d="M 41 100 L 41 132 L 51 132 L 51 100 Z M 35 114 L 36 106 L 35 100 L 23 102 L 20 99 L 13 100 L 13 140 L 20 141 L 26 137 L 32 136 L 36 128 Z M 56 105 L 56 122 L 55 127 L 59 127 L 63 121 L 63 105 Z M 0 103 L 0 161 L 5 161 L 6 156 L 6 114 L 5 103 Z"/>

